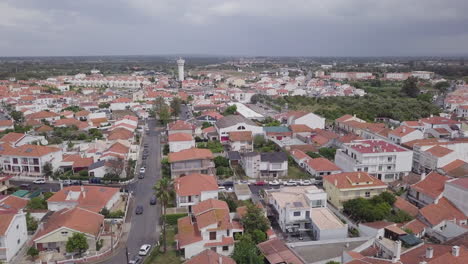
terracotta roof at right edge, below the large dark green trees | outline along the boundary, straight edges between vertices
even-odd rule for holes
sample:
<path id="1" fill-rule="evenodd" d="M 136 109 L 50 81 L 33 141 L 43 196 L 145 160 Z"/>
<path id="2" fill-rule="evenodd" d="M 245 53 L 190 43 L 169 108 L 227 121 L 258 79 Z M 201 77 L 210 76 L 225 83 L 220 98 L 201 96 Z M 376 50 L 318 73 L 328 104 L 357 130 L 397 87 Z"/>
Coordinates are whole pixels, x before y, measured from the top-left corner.
<path id="1" fill-rule="evenodd" d="M 466 220 L 467 216 L 458 210 L 445 197 L 439 199 L 437 204 L 427 205 L 419 210 L 421 215 L 432 225 L 438 225 L 444 220 Z"/>

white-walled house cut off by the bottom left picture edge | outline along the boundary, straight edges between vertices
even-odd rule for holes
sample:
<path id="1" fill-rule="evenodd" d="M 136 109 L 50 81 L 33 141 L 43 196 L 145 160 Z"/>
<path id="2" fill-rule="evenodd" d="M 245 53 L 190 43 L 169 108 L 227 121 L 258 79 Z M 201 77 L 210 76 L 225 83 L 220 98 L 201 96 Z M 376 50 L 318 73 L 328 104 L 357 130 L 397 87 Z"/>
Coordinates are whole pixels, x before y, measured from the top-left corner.
<path id="1" fill-rule="evenodd" d="M 26 214 L 0 210 L 0 262 L 9 263 L 28 240 Z"/>

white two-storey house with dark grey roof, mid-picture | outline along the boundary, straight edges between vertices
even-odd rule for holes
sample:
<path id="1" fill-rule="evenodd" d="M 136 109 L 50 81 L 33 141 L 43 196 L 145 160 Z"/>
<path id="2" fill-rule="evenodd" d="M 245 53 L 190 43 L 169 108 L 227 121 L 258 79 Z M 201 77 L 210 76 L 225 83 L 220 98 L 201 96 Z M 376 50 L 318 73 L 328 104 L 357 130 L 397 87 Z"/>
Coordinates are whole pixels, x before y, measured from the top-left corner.
<path id="1" fill-rule="evenodd" d="M 241 154 L 241 166 L 250 178 L 284 177 L 288 174 L 286 152 L 246 152 Z"/>

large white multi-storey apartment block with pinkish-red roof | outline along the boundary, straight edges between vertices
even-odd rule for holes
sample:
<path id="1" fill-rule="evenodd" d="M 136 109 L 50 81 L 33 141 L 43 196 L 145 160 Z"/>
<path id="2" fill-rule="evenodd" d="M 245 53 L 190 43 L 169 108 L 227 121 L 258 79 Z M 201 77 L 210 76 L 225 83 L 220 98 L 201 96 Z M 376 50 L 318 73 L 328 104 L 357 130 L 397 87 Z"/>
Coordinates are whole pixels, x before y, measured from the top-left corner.
<path id="1" fill-rule="evenodd" d="M 392 182 L 411 172 L 413 152 L 384 140 L 355 140 L 345 143 L 335 155 L 335 163 L 345 172 L 363 171 L 384 182 Z"/>

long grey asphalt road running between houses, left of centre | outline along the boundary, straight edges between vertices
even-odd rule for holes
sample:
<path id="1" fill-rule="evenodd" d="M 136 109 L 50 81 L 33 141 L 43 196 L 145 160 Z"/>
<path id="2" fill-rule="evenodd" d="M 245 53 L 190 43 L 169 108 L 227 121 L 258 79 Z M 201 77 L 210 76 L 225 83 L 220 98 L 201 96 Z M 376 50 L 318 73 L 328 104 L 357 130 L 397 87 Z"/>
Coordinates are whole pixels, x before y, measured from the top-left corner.
<path id="1" fill-rule="evenodd" d="M 125 245 L 118 247 L 119 252 L 111 259 L 102 263 L 108 264 L 124 264 L 127 263 L 126 249 L 128 248 L 129 259 L 138 255 L 138 250 L 143 244 L 154 245 L 159 240 L 159 215 L 160 207 L 158 205 L 150 205 L 149 201 L 154 194 L 153 186 L 158 179 L 161 178 L 161 147 L 159 144 L 159 132 L 156 131 L 155 121 L 148 121 L 149 135 L 144 137 L 144 143 L 149 145 L 149 155 L 145 162 L 146 173 L 144 179 L 139 179 L 135 183 L 128 186 L 128 189 L 133 192 L 134 202 L 129 207 L 131 215 L 131 229 Z M 136 206 L 143 206 L 143 214 L 136 215 Z"/>

